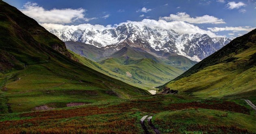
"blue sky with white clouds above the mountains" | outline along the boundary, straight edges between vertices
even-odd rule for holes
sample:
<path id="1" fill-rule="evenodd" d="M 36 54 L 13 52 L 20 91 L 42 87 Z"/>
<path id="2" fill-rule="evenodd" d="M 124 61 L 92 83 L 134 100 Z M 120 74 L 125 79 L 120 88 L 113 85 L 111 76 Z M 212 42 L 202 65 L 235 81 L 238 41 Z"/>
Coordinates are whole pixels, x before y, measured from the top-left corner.
<path id="1" fill-rule="evenodd" d="M 234 39 L 256 28 L 256 0 L 3 0 L 44 27 L 127 22 Z"/>

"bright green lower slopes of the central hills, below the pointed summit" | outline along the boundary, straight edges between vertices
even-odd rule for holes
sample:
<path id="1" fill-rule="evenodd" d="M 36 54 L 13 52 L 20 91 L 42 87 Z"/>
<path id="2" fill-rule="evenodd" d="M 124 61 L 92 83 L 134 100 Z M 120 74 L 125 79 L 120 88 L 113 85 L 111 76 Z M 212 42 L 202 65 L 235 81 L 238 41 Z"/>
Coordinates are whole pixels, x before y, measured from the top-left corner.
<path id="1" fill-rule="evenodd" d="M 124 62 L 126 62 L 125 65 L 122 64 Z M 154 86 L 164 84 L 183 72 L 180 69 L 163 65 L 150 58 L 139 60 L 132 58 L 125 60 L 125 57 L 108 58 L 100 63 L 114 72 L 139 80 L 137 85 L 141 85 L 145 89 L 153 89 Z"/>

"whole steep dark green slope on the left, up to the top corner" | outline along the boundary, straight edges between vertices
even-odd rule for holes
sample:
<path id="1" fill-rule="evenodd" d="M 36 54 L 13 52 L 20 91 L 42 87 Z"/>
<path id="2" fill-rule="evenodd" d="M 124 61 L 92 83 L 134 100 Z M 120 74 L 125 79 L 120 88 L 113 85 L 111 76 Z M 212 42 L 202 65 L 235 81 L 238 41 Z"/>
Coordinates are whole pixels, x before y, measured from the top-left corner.
<path id="1" fill-rule="evenodd" d="M 65 43 L 15 7 L 0 1 L 0 9 L 0 112 L 149 94 L 76 62 Z"/>

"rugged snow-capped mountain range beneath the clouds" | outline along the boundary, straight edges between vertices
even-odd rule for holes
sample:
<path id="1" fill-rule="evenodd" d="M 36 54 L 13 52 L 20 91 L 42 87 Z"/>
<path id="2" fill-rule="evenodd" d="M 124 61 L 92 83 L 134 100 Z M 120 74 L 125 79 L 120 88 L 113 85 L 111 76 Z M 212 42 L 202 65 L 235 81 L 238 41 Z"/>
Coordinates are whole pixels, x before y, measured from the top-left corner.
<path id="1" fill-rule="evenodd" d="M 180 54 L 193 61 L 201 61 L 213 54 L 231 40 L 226 37 L 209 37 L 206 34 L 179 34 L 174 30 L 159 27 L 137 26 L 126 23 L 116 28 L 96 30 L 87 27 L 84 30 L 65 28 L 62 30 L 47 29 L 62 41 L 79 41 L 98 48 L 125 45 L 141 48 L 146 51 L 163 51 Z"/>

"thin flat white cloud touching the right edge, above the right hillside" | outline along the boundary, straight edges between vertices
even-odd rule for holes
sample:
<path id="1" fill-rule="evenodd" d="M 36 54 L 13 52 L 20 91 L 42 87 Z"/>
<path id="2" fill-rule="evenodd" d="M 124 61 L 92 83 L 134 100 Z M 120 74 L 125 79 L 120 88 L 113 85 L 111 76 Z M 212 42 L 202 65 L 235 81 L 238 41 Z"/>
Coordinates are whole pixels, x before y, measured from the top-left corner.
<path id="1" fill-rule="evenodd" d="M 214 28 L 207 28 L 208 30 L 212 32 L 219 32 L 219 31 L 251 31 L 254 30 L 255 28 L 252 28 L 250 26 L 238 26 L 238 27 L 224 27 L 224 28 L 219 28 L 219 27 L 214 27 Z"/>

